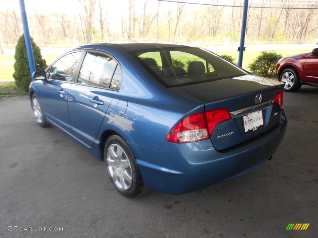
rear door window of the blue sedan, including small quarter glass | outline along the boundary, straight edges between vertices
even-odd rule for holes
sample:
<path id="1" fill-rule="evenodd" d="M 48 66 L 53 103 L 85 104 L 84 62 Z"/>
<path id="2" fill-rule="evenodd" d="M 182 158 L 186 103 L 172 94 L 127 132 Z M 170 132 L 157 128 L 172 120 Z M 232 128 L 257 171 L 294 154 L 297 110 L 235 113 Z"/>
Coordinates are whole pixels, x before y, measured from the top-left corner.
<path id="1" fill-rule="evenodd" d="M 113 78 L 117 63 L 109 56 L 106 56 L 101 53 L 96 52 L 87 52 L 84 58 L 83 64 L 79 71 L 79 78 L 77 83 L 82 83 L 85 85 L 92 85 L 97 87 L 104 88 L 116 88 L 119 89 L 121 82 L 121 69 L 117 67 L 120 71 L 120 82 L 118 81 L 118 72 L 117 72 L 117 86 L 113 87 L 110 85 L 111 82 L 115 80 Z M 115 77 L 114 75 L 114 77 Z M 115 84 L 115 83 L 114 83 Z"/>

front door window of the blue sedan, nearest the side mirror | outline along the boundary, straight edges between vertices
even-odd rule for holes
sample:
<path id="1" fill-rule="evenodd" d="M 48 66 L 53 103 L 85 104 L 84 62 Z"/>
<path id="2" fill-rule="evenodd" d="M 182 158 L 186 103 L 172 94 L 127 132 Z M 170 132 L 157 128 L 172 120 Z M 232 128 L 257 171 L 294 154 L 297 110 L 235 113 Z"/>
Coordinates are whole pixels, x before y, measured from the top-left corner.
<path id="1" fill-rule="evenodd" d="M 59 58 L 49 69 L 48 79 L 72 82 L 74 71 L 82 52 L 67 54 Z"/>

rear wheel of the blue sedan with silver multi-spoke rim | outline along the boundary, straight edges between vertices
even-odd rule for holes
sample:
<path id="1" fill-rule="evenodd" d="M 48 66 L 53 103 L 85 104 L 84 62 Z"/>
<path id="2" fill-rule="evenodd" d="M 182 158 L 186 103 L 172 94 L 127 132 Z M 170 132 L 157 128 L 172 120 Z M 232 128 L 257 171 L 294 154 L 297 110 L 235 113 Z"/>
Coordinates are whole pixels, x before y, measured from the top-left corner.
<path id="1" fill-rule="evenodd" d="M 135 155 L 120 136 L 107 139 L 104 158 L 109 178 L 121 195 L 134 198 L 148 191 L 143 185 Z"/>

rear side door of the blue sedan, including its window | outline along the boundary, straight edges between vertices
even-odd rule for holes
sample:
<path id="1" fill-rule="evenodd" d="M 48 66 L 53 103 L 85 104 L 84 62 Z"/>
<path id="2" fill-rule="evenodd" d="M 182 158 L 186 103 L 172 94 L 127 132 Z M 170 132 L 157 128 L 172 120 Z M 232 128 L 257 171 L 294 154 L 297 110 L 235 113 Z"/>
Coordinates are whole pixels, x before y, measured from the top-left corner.
<path id="1" fill-rule="evenodd" d="M 77 82 L 68 90 L 71 133 L 88 147 L 93 142 L 121 83 L 121 67 L 105 53 L 87 51 Z"/>

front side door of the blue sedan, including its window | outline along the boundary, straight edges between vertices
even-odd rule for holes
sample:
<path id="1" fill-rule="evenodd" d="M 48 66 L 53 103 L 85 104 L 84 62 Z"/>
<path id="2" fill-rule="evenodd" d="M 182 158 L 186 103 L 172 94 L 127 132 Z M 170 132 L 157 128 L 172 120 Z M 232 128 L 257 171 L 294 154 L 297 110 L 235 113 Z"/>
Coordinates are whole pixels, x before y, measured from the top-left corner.
<path id="1" fill-rule="evenodd" d="M 67 92 L 73 83 L 81 54 L 82 51 L 71 52 L 56 60 L 46 71 L 47 81 L 39 95 L 46 118 L 66 131 L 70 130 Z"/>

